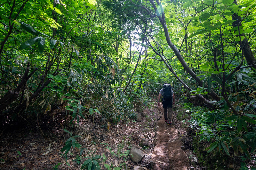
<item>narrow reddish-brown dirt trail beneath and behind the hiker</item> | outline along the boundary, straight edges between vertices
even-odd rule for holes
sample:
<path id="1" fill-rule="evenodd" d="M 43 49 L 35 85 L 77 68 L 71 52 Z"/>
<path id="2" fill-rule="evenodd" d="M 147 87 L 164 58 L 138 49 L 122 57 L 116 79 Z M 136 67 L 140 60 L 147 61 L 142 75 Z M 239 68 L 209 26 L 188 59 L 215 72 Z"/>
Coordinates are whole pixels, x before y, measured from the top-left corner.
<path id="1" fill-rule="evenodd" d="M 164 113 L 163 106 L 159 106 L 159 112 Z M 167 125 L 164 115 L 156 122 L 156 146 L 152 152 L 152 159 L 155 160 L 154 170 L 188 170 L 188 155 L 181 149 L 183 142 L 175 124 L 175 114 L 172 116 L 174 124 Z"/>

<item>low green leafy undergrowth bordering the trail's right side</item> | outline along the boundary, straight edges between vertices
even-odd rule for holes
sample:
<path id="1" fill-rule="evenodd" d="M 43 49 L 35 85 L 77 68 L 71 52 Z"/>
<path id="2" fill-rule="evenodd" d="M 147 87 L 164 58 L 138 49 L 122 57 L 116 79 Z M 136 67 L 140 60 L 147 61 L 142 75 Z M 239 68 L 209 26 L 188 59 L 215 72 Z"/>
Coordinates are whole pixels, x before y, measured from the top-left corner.
<path id="1" fill-rule="evenodd" d="M 240 164 L 236 166 L 240 166 L 241 169 L 255 169 L 255 165 L 247 165 L 255 160 L 256 153 L 256 128 L 250 117 L 245 121 L 247 118 L 230 116 L 230 113 L 221 110 L 209 110 L 204 106 L 195 107 L 191 103 L 181 105 L 186 111 L 178 112 L 177 118 L 182 119 L 190 113 L 191 120 L 187 123 L 193 129 L 196 140 L 204 143 L 205 152 L 215 156 L 220 154 L 221 158 L 239 160 Z M 253 117 L 250 114 L 247 116 Z"/>

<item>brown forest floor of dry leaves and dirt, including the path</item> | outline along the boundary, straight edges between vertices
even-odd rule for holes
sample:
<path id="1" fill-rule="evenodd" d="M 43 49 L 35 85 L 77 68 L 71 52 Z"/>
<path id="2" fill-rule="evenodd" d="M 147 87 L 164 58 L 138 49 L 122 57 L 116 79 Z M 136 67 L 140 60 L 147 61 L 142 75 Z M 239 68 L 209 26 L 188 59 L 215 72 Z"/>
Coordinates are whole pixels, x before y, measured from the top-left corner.
<path id="1" fill-rule="evenodd" d="M 176 108 L 182 109 L 180 106 Z M 81 136 L 75 139 L 84 148 L 80 152 L 81 148 L 72 147 L 66 159 L 60 150 L 70 135 L 63 131 L 63 125 L 55 125 L 51 131 L 42 127 L 39 128 L 40 131 L 9 128 L 0 136 L 0 169 L 79 169 L 86 156 L 94 155 L 103 157 L 96 159 L 101 169 L 123 167 L 132 170 L 136 166 L 142 166 L 145 170 L 190 169 L 190 155 L 187 153 L 191 151 L 191 137 L 187 136 L 187 127 L 184 127 L 186 124 L 176 119 L 177 111 L 173 111 L 174 124 L 170 126 L 164 122 L 162 105 L 157 108 L 156 103 L 151 104 L 143 112 L 147 116 L 142 117 L 141 122 L 133 120 L 128 123 L 108 123 L 107 127 L 102 128 L 103 122 L 100 119 L 87 117 L 79 122 L 78 127 L 66 126 L 65 129 L 73 131 L 73 135 Z M 142 138 L 147 138 L 148 147 L 139 146 Z M 127 152 L 134 145 L 140 147 L 146 155 L 137 164 L 129 159 Z M 182 149 L 182 146 L 185 147 Z M 154 163 L 153 167 L 150 166 L 150 161 Z"/>

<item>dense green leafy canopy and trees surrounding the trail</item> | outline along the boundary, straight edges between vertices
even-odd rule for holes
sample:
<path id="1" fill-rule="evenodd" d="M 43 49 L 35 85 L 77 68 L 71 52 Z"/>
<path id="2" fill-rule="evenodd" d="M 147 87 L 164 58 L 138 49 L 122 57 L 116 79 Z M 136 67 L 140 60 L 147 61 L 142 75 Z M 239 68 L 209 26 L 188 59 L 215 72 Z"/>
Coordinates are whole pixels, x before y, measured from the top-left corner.
<path id="1" fill-rule="evenodd" d="M 67 115 L 70 124 L 93 116 L 110 128 L 169 82 L 181 100 L 215 110 L 208 124 L 227 125 L 201 133 L 210 152 L 250 158 L 255 13 L 255 0 L 2 0 L 1 129 Z"/>

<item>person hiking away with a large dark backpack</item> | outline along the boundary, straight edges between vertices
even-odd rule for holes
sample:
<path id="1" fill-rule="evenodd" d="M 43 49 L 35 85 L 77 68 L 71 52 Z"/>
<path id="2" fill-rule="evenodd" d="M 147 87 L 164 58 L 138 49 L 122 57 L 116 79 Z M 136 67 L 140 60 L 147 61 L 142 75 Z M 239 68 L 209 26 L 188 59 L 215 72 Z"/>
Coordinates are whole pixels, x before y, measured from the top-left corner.
<path id="1" fill-rule="evenodd" d="M 172 105 L 175 105 L 175 96 L 172 91 L 172 87 L 170 84 L 164 83 L 163 88 L 160 90 L 157 100 L 157 106 L 159 106 L 160 97 L 162 96 L 162 104 L 164 108 L 164 119 L 167 125 L 171 125 L 172 123 Z M 168 117 L 167 117 L 168 110 Z"/>

